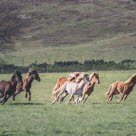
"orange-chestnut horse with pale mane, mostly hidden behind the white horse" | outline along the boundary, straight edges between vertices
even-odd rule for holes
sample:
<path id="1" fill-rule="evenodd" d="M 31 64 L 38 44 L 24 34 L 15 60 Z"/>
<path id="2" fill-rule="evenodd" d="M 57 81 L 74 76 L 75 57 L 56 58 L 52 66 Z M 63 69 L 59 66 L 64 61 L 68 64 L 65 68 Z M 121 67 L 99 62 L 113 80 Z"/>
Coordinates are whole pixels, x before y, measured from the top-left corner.
<path id="1" fill-rule="evenodd" d="M 76 78 L 80 75 L 80 72 L 74 72 L 74 73 L 70 73 L 68 75 L 68 78 L 67 77 L 60 77 L 57 82 L 56 82 L 56 85 L 55 87 L 53 88 L 53 91 L 52 91 L 52 98 L 55 99 L 57 97 L 57 93 L 54 94 L 54 91 L 58 90 L 60 86 L 62 86 L 65 82 L 67 81 L 73 81 L 75 82 Z"/>

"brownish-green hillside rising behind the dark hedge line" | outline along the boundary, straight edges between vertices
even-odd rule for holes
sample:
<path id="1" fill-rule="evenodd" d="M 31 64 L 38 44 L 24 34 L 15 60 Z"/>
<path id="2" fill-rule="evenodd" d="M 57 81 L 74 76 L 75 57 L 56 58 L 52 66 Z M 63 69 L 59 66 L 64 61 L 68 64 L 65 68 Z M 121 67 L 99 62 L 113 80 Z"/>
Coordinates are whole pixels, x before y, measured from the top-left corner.
<path id="1" fill-rule="evenodd" d="M 0 4 L 12 10 L 7 24 L 15 13 L 14 20 L 19 20 L 17 31 L 10 31 L 14 50 L 1 54 L 8 63 L 136 57 L 134 0 L 2 0 Z"/>

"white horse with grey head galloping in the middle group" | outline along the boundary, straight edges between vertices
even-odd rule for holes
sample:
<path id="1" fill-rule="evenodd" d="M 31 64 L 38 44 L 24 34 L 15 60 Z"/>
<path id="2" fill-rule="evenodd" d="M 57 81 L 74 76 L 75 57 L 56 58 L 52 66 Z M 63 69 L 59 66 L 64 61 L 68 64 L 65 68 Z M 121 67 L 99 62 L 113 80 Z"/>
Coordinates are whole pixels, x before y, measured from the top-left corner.
<path id="1" fill-rule="evenodd" d="M 80 74 L 80 76 L 77 78 L 77 81 L 74 83 L 74 82 L 71 82 L 71 81 L 67 81 L 65 82 L 57 91 L 59 91 L 60 93 L 58 94 L 57 98 L 52 102 L 52 104 L 54 104 L 58 99 L 59 97 L 64 93 L 64 92 L 67 92 L 66 93 L 66 96 L 68 94 L 70 94 L 70 98 L 69 100 L 67 101 L 66 104 L 69 103 L 69 101 L 72 99 L 72 97 L 74 95 L 77 95 L 77 98 L 75 100 L 75 103 L 78 104 L 79 102 L 79 97 L 82 95 L 82 91 L 83 91 L 83 87 L 85 84 L 89 84 L 90 85 L 90 81 L 89 81 L 89 76 L 87 74 Z M 61 90 L 61 91 L 60 91 Z M 57 93 L 56 91 L 56 93 Z M 66 97 L 64 96 L 64 97 Z M 62 97 L 61 100 L 60 100 L 60 103 L 62 102 L 64 98 Z"/>

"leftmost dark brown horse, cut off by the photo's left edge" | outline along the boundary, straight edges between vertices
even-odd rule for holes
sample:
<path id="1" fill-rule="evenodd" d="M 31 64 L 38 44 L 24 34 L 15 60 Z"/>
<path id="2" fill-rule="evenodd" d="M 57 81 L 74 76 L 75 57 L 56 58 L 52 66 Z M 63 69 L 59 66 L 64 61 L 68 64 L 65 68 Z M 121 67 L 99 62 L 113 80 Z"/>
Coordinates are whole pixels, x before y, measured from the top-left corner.
<path id="1" fill-rule="evenodd" d="M 15 94 L 17 83 L 22 85 L 21 72 L 16 71 L 10 81 L 0 82 L 0 98 L 4 97 L 0 103 L 4 104 L 12 95 Z"/>

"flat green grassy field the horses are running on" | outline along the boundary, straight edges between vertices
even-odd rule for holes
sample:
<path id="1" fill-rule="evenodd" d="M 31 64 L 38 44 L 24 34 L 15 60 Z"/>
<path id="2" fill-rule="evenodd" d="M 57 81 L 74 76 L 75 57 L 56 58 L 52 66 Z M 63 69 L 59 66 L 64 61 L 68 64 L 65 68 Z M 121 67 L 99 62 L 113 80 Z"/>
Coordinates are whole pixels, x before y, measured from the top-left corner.
<path id="1" fill-rule="evenodd" d="M 87 73 L 91 73 L 89 71 Z M 0 136 L 134 136 L 136 134 L 136 88 L 125 102 L 120 96 L 107 101 L 105 92 L 116 80 L 127 80 L 135 71 L 99 71 L 101 83 L 82 105 L 51 104 L 56 79 L 68 73 L 42 73 L 32 85 L 32 101 L 24 93 L 0 105 Z M 0 80 L 11 75 L 1 74 Z M 23 75 L 25 77 L 25 75 Z"/>

